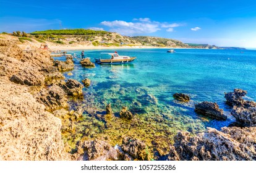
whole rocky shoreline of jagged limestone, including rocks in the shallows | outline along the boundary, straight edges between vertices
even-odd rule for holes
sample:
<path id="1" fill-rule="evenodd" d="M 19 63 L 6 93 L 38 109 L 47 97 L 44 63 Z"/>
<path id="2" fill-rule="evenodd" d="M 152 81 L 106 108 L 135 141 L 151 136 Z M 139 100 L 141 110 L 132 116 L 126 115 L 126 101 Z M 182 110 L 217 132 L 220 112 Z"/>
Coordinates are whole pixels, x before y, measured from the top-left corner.
<path id="1" fill-rule="evenodd" d="M 93 64 L 85 60 L 84 67 Z M 121 145 L 112 146 L 104 139 L 81 140 L 75 150 L 63 140 L 74 134 L 83 110 L 69 109 L 70 98 L 83 99 L 83 85 L 64 80 L 61 72 L 74 68 L 72 60 L 54 61 L 48 51 L 23 51 L 17 41 L 0 39 L 0 160 L 150 160 L 155 158 L 147 145 L 136 138 L 124 137 Z M 90 81 L 84 81 L 85 86 Z M 208 128 L 194 137 L 178 132 L 169 154 L 158 153 L 161 160 L 255 160 L 256 103 L 242 97 L 246 91 L 225 93 L 231 114 L 245 127 Z M 175 95 L 189 101 L 186 95 Z M 182 98 L 183 97 L 183 98 Z M 210 108 L 210 111 L 209 111 Z M 212 110 L 211 110 L 212 109 Z M 223 117 L 215 103 L 197 106 L 200 113 Z M 111 104 L 106 118 L 114 117 Z M 122 119 L 134 115 L 122 108 Z M 225 119 L 225 117 L 224 117 Z M 72 137 L 70 137 L 72 138 Z"/>

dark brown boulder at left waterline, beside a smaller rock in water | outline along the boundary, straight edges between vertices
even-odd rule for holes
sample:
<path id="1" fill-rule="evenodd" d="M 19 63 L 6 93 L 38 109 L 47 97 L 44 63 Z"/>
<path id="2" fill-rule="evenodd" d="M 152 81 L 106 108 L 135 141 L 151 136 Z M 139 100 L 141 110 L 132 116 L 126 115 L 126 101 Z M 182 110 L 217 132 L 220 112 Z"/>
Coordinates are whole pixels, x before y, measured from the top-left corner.
<path id="1" fill-rule="evenodd" d="M 61 88 L 70 96 L 83 95 L 83 85 L 74 79 L 69 79 L 65 84 L 60 84 Z"/>

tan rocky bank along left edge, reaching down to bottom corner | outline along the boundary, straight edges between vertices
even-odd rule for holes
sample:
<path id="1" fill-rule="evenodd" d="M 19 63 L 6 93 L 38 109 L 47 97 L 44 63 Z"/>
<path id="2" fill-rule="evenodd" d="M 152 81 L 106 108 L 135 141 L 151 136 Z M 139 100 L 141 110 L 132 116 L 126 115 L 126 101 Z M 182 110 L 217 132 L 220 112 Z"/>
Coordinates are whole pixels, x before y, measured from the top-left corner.
<path id="1" fill-rule="evenodd" d="M 15 41 L 0 40 L 0 160 L 70 159 L 61 120 L 30 93 L 44 85 L 52 65 L 47 51 L 22 51 Z"/>

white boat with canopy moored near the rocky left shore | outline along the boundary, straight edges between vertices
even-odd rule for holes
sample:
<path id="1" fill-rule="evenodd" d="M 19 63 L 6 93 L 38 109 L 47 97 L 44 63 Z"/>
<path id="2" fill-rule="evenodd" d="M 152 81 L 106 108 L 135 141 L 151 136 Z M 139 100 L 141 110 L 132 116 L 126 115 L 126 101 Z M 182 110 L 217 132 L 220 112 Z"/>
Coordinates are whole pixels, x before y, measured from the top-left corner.
<path id="1" fill-rule="evenodd" d="M 134 61 L 134 59 L 136 59 L 136 57 L 120 56 L 117 53 L 105 53 L 105 54 L 109 54 L 111 56 L 111 59 L 95 58 L 96 63 L 98 63 L 98 64 L 127 64 L 127 63 Z"/>

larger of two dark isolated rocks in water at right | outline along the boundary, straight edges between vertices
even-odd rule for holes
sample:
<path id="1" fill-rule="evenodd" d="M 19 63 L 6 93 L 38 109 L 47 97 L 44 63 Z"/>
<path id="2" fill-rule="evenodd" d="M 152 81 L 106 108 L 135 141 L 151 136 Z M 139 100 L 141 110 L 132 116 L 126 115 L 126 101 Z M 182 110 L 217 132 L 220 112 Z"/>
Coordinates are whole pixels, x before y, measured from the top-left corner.
<path id="1" fill-rule="evenodd" d="M 227 119 L 227 116 L 223 114 L 223 109 L 220 109 L 217 103 L 211 103 L 208 101 L 195 104 L 195 112 L 204 116 L 210 116 L 215 119 Z"/>

